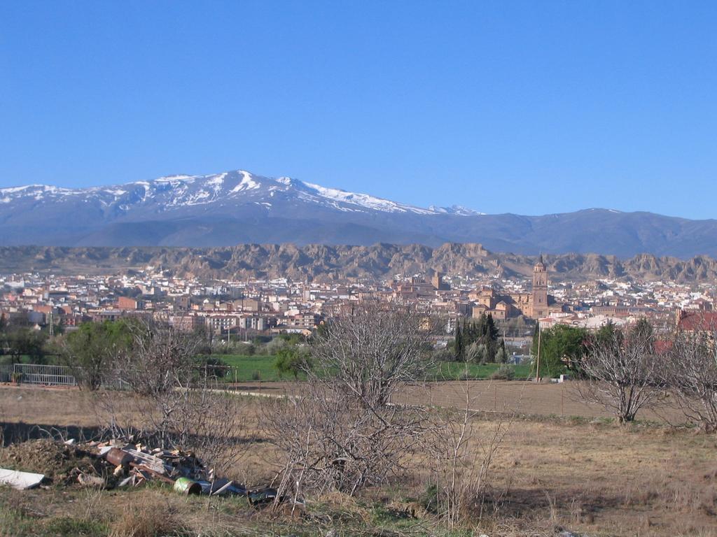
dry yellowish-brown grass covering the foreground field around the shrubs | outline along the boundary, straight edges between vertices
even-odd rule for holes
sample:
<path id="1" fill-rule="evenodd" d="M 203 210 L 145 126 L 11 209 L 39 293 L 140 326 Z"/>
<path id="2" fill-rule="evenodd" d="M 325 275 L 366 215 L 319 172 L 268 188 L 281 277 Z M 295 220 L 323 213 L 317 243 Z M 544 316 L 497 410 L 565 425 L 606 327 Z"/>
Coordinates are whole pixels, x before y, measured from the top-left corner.
<path id="1" fill-rule="evenodd" d="M 242 465 L 230 476 L 251 485 L 265 482 L 275 471 L 272 448 L 262 442 L 257 421 L 261 404 L 256 398 L 245 407 L 247 415 L 242 419 L 254 438 L 246 444 Z M 44 428 L 92 428 L 98 423 L 91 406 L 91 397 L 68 390 L 0 390 L 0 408 L 10 423 L 22 420 Z M 486 431 L 492 424 L 490 416 L 479 420 Z M 4 425 L 0 423 L 0 427 Z M 477 522 L 476 529 L 488 535 L 515 536 L 554 535 L 556 527 L 590 536 L 717 536 L 716 448 L 716 436 L 666 426 L 624 430 L 603 420 L 514 422 L 495 456 L 485 505 L 488 516 Z M 386 516 L 398 516 L 403 510 L 407 516 L 417 517 L 412 522 L 417 527 L 430 527 L 430 516 L 417 503 L 424 495 L 427 473 L 427 467 L 419 465 L 402 483 L 368 490 L 359 500 L 313 498 L 308 516 L 314 518 L 309 520 L 313 524 L 319 521 L 324 529 L 336 523 L 368 527 L 376 523 L 371 505 L 379 503 L 384 505 L 382 512 L 389 513 Z M 98 511 L 109 513 L 109 527 L 118 536 L 151 534 L 131 533 L 152 529 L 151 522 L 145 520 L 146 510 L 141 509 L 143 503 L 174 513 L 170 526 L 158 531 L 177 533 L 190 528 L 191 533 L 202 521 L 210 520 L 224 528 L 218 532 L 221 534 L 232 534 L 237 528 L 251 533 L 247 528 L 255 527 L 252 525 L 277 523 L 236 503 L 219 504 L 207 513 L 204 503 L 163 489 L 134 491 L 129 495 L 131 503 L 123 493 L 103 493 L 99 510 L 97 498 L 78 497 L 67 503 L 67 497 L 57 490 L 37 490 L 32 495 L 38 496 L 37 505 L 42 505 L 47 516 L 67 511 L 76 511 L 80 518 L 97 516 Z M 131 520 L 134 513 L 143 521 L 138 522 L 137 530 Z"/>

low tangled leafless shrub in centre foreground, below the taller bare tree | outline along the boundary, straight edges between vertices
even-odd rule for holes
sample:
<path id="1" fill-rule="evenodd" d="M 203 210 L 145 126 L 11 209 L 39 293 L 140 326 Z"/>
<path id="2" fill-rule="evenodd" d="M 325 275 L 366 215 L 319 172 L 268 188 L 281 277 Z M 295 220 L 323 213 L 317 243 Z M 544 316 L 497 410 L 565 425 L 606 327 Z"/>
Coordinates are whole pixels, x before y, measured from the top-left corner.
<path id="1" fill-rule="evenodd" d="M 301 388 L 300 397 L 264 405 L 267 437 L 279 448 L 282 493 L 353 495 L 407 470 L 424 432 L 422 410 L 366 407 L 324 383 L 309 381 Z"/>

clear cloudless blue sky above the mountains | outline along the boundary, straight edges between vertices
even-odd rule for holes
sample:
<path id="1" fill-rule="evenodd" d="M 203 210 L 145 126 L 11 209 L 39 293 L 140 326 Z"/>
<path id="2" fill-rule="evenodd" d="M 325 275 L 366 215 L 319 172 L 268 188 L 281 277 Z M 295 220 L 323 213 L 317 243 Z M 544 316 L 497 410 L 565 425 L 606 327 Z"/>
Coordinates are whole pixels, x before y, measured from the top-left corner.
<path id="1" fill-rule="evenodd" d="M 717 3 L 4 1 L 0 185 L 717 218 Z"/>

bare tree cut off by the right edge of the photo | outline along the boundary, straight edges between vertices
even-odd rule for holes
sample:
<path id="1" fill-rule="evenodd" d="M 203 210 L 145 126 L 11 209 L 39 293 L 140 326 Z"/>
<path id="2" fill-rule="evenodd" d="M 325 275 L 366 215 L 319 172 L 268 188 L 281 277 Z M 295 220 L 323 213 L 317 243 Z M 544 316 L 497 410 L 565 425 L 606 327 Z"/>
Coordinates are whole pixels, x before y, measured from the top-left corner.
<path id="1" fill-rule="evenodd" d="M 706 432 L 717 432 L 717 349 L 714 334 L 678 332 L 665 354 L 665 383 L 685 415 Z"/>

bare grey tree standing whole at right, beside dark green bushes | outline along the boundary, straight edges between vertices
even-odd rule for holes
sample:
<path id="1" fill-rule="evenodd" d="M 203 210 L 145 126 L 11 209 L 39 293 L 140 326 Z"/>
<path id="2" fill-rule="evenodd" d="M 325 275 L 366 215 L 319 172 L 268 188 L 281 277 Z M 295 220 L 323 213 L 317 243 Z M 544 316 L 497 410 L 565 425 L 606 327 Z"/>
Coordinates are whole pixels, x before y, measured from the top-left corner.
<path id="1" fill-rule="evenodd" d="M 576 361 L 583 379 L 577 390 L 583 400 L 603 405 L 621 424 L 635 420 L 637 411 L 660 398 L 660 359 L 652 332 L 608 331 L 588 344 Z"/>

